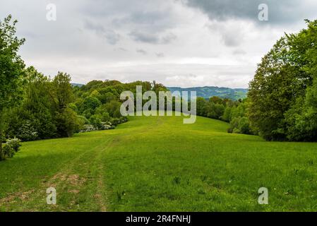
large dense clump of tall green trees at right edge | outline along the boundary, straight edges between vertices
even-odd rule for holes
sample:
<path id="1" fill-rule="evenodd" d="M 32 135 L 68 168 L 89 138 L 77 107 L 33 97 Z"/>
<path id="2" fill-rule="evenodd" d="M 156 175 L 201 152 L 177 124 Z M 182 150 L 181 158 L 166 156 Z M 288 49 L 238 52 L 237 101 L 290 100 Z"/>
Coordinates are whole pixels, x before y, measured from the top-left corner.
<path id="1" fill-rule="evenodd" d="M 263 57 L 249 88 L 249 120 L 267 140 L 317 141 L 317 20 Z"/>

